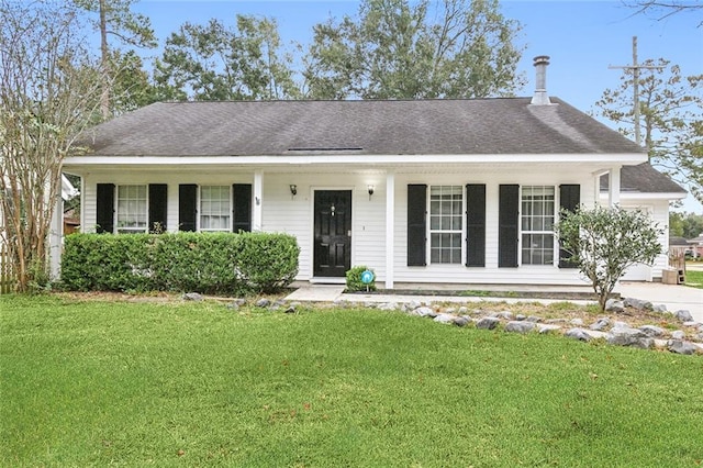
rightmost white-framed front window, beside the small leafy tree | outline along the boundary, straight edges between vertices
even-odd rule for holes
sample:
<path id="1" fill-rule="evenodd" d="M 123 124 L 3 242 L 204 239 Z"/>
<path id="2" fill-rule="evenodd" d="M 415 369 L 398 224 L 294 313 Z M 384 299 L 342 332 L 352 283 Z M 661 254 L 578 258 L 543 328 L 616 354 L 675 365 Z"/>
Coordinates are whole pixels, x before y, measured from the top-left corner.
<path id="1" fill-rule="evenodd" d="M 529 204 L 531 204 L 531 209 L 527 210 L 526 209 L 526 200 L 525 197 L 527 194 L 527 192 L 532 192 L 535 189 L 539 189 L 539 190 L 551 190 L 551 212 L 549 213 L 549 211 L 545 211 L 545 210 L 538 210 L 539 214 L 534 214 L 535 210 L 534 208 L 537 207 L 537 203 L 539 203 L 542 207 L 540 208 L 545 208 L 545 204 L 549 203 L 549 201 L 537 201 L 535 202 L 534 199 L 529 200 Z M 558 253 L 557 253 L 557 248 L 558 248 L 558 243 L 557 243 L 557 236 L 555 233 L 555 223 L 557 221 L 557 207 L 558 207 L 558 200 L 557 200 L 557 188 L 555 186 L 537 186 L 537 185 L 532 185 L 532 186 L 521 186 L 520 188 L 520 265 L 528 265 L 528 266 L 555 266 L 557 265 L 558 261 Z M 532 219 L 532 229 L 525 229 L 525 222 Z M 540 223 L 535 223 L 535 221 L 542 219 Z M 545 229 L 545 225 L 547 225 L 548 223 L 551 223 L 551 230 L 547 230 Z M 535 224 L 538 224 L 537 227 L 535 229 Z M 542 229 L 540 229 L 542 227 Z M 540 248 L 540 247 L 527 247 L 525 244 L 525 237 L 528 235 L 539 235 L 539 236 L 551 236 L 551 249 L 548 248 Z M 528 249 L 529 252 L 535 252 L 535 250 L 539 250 L 543 252 L 543 256 L 545 253 L 547 252 L 551 252 L 551 260 L 550 261 L 542 261 L 542 263 L 533 263 L 531 261 L 525 261 L 525 253 L 526 249 Z M 532 259 L 534 256 L 534 254 L 529 254 L 528 258 Z"/>

